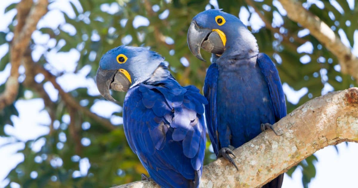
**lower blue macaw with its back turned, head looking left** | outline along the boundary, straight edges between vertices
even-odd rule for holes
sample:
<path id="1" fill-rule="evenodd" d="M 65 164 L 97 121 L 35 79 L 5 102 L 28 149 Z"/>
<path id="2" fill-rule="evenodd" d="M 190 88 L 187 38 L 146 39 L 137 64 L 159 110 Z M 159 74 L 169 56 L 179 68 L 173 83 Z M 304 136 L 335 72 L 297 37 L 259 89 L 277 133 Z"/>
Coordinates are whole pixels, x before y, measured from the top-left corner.
<path id="1" fill-rule="evenodd" d="M 110 101 L 110 89 L 127 91 L 124 132 L 150 177 L 161 187 L 198 187 L 207 104 L 199 90 L 180 86 L 158 53 L 124 45 L 102 56 L 96 83 Z"/>

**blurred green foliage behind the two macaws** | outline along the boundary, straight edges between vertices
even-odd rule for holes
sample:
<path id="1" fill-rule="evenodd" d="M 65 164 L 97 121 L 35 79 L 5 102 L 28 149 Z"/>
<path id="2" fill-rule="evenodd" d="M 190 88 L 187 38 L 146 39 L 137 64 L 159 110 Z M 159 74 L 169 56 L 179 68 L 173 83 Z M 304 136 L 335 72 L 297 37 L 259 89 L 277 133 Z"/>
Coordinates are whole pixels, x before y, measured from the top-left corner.
<path id="1" fill-rule="evenodd" d="M 301 2 L 305 8 L 331 26 L 336 34 L 338 34 L 338 30 L 342 30 L 347 35 L 350 46 L 353 46 L 353 33 L 358 24 L 355 19 L 358 16 L 358 6 L 355 6 L 355 9 L 350 9 L 345 0 L 337 1 L 342 8 L 340 10 L 327 0 L 317 1 L 319 7 L 304 0 Z M 52 3 L 51 1 L 50 6 Z M 186 37 L 193 16 L 205 8 L 214 8 L 208 0 L 78 0 L 70 1 L 70 3 L 72 10 L 69 11 L 73 11 L 75 16 L 63 12 L 66 20 L 66 24 L 63 25 L 66 27 L 60 25 L 55 29 L 38 28 L 41 33 L 48 34 L 51 40 L 54 39 L 56 45 L 53 48 L 48 48 L 37 64 L 59 76 L 63 73 L 53 71 L 53 67 L 48 66 L 45 54 L 50 50 L 68 52 L 71 49 L 76 49 L 81 56 L 75 72 L 90 65 L 92 71 L 87 78 L 93 78 L 98 62 L 107 50 L 122 43 L 134 46 L 144 45 L 150 46 L 152 50 L 166 58 L 174 77 L 182 85 L 193 84 L 198 88 L 203 87 L 206 68 L 210 64 L 210 54 L 203 53 L 203 57 L 208 60 L 206 63 L 199 61 L 190 53 Z M 246 11 L 249 14 L 248 19 L 252 20 L 248 28 L 257 38 L 260 51 L 268 54 L 276 63 L 282 82 L 287 83 L 294 90 L 300 90 L 303 87 L 308 89 L 298 103 L 287 102 L 288 112 L 310 98 L 329 91 L 329 85 L 334 90 L 357 86 L 349 75 L 342 75 L 339 72 L 337 59 L 332 53 L 311 35 L 302 34 L 304 28 L 287 18 L 285 11 L 280 10 L 277 1 L 260 0 L 260 2 L 252 1 L 251 4 L 253 7 L 248 6 L 244 0 L 218 1 L 219 8 L 223 8 L 228 13 L 238 16 L 240 11 Z M 11 4 L 5 11 L 14 8 L 15 4 Z M 50 8 L 50 10 L 52 9 L 55 8 Z M 259 24 L 253 19 L 256 17 L 257 20 L 255 10 L 260 11 L 264 16 L 263 19 L 267 20 L 266 24 L 272 25 L 271 28 L 264 26 L 260 29 L 252 29 L 257 28 L 256 24 Z M 169 15 L 166 16 L 166 14 Z M 139 16 L 146 17 L 149 25 L 135 27 L 132 23 L 141 18 Z M 275 18 L 274 21 L 273 18 Z M 282 23 L 280 21 L 277 23 L 277 20 L 281 18 Z M 10 44 L 6 35 L 13 32 L 16 24 L 15 19 L 8 26 L 8 32 L 0 32 L 0 44 Z M 76 32 L 69 32 L 68 28 L 74 28 Z M 305 45 L 303 50 L 297 50 L 304 43 L 311 45 Z M 30 47 L 35 49 L 36 45 L 38 44 L 32 41 Z M 310 50 L 310 46 L 313 48 L 312 50 Z M 187 67 L 180 63 L 180 61 L 184 61 L 184 58 L 190 63 Z M 3 71 L 8 62 L 9 54 L 6 54 L 1 58 L 0 71 Z M 41 84 L 44 84 L 45 81 L 42 81 Z M 323 88 L 325 89 L 323 90 Z M 4 85 L 1 85 L 0 91 L 3 90 Z M 24 88 L 21 84 L 18 99 L 24 98 L 25 90 L 33 91 L 33 97 L 39 97 L 34 88 Z M 87 88 L 77 88 L 70 94 L 78 102 L 85 101 L 84 106 L 88 109 L 101 98 L 89 95 Z M 123 102 L 124 95 L 125 93 L 113 93 L 113 97 L 120 102 Z M 45 110 L 52 110 L 55 113 L 54 130 L 49 135 L 37 139 L 42 139 L 45 143 L 40 151 L 35 152 L 31 149 L 36 140 L 27 141 L 25 149 L 18 151 L 24 154 L 24 162 L 11 170 L 7 177 L 10 182 L 19 183 L 23 187 L 110 187 L 140 180 L 140 174 L 146 173 L 137 156 L 128 147 L 121 125 L 117 126 L 117 129 L 109 131 L 95 120 L 76 111 L 77 131 L 72 134 L 67 122 L 63 121 L 63 117 L 68 115 L 70 110 L 61 97 L 54 101 L 54 104 L 54 109 L 45 108 Z M 121 116 L 121 112 L 115 114 Z M 0 125 L 11 125 L 11 115 L 18 115 L 14 105 L 8 106 L 3 112 L 0 112 Z M 83 123 L 89 123 L 90 128 L 82 129 Z M 8 135 L 5 134 L 4 129 L 0 129 L 0 136 Z M 83 146 L 76 141 L 76 139 L 84 137 L 91 140 L 89 146 Z M 60 145 L 63 147 L 58 147 L 59 143 L 62 143 Z M 208 148 L 209 145 L 208 142 Z M 87 158 L 91 164 L 86 174 L 81 174 L 78 171 L 79 159 L 83 158 Z M 208 150 L 205 164 L 214 159 L 214 154 Z M 62 161 L 62 163 L 58 161 Z M 287 173 L 291 175 L 294 170 L 301 169 L 302 181 L 307 187 L 311 178 L 315 176 L 315 161 L 317 158 L 310 156 L 299 163 L 300 168 L 294 167 Z M 30 176 L 33 172 L 37 172 L 36 177 Z"/>

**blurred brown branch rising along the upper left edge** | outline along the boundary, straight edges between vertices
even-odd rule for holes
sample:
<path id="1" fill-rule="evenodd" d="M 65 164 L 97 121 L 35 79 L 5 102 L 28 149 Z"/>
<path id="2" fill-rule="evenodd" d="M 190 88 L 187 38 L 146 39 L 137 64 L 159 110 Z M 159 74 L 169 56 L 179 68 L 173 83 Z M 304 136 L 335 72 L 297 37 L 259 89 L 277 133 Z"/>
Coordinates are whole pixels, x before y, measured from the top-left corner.
<path id="1" fill-rule="evenodd" d="M 38 21 L 47 13 L 48 0 L 38 0 L 33 8 L 31 8 L 32 4 L 32 0 L 23 0 L 16 6 L 18 25 L 15 27 L 14 39 L 10 49 L 10 76 L 6 80 L 5 91 L 0 95 L 0 110 L 13 103 L 18 95 L 20 61 L 30 43 L 31 35 L 36 29 Z"/>

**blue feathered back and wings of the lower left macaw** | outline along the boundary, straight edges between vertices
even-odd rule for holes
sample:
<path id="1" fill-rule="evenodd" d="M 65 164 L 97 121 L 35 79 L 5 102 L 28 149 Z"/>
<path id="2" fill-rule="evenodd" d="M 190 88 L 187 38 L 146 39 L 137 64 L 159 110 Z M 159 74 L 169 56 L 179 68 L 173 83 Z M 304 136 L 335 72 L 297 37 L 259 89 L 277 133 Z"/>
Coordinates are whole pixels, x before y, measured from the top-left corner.
<path id="1" fill-rule="evenodd" d="M 163 187 L 189 187 L 201 175 L 206 99 L 195 86 L 173 78 L 131 88 L 124 102 L 124 129 L 131 149 Z"/>

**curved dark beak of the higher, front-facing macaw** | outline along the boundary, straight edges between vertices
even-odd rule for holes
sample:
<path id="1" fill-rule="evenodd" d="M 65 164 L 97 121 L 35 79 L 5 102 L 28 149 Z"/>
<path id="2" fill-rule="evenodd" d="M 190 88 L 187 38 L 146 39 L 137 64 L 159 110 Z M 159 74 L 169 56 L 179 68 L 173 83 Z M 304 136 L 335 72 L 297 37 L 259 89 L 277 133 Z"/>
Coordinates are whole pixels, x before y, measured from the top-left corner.
<path id="1" fill-rule="evenodd" d="M 224 43 L 216 30 L 201 28 L 195 21 L 192 21 L 188 29 L 187 40 L 190 52 L 195 57 L 205 61 L 200 54 L 200 48 L 214 54 L 222 54 L 224 52 Z"/>

